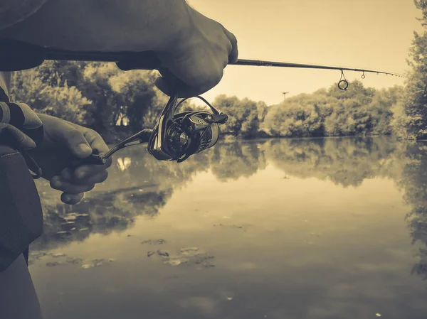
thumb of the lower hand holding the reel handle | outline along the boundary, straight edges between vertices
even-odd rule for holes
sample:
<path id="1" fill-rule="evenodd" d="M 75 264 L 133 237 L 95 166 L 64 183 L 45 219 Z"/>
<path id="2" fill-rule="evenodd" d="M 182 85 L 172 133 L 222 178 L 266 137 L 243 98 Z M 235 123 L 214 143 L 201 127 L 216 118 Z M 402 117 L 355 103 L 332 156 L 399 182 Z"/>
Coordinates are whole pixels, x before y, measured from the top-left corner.
<path id="1" fill-rule="evenodd" d="M 58 131 L 56 140 L 63 143 L 63 145 L 78 158 L 85 158 L 92 154 L 92 148 L 85 139 L 83 132 L 75 129 L 75 127 L 70 124 L 64 125 Z"/>

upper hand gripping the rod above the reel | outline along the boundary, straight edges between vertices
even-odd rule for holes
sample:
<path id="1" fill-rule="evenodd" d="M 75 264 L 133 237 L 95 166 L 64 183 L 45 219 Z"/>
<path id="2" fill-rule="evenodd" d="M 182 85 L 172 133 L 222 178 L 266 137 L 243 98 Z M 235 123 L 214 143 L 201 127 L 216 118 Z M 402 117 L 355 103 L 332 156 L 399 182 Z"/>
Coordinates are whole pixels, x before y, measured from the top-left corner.
<path id="1" fill-rule="evenodd" d="M 189 28 L 181 39 L 158 53 L 164 70 L 156 80 L 157 87 L 170 95 L 169 83 L 177 77 L 179 97 L 194 97 L 211 90 L 223 77 L 229 62 L 238 60 L 237 39 L 220 23 L 189 8 Z"/>

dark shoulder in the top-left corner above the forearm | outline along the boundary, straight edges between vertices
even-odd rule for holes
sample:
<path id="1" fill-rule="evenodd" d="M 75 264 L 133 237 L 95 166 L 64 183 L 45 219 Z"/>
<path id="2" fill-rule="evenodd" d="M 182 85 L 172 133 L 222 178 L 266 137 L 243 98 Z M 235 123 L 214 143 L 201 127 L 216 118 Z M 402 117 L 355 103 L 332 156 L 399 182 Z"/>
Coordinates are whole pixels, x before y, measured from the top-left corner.
<path id="1" fill-rule="evenodd" d="M 0 0 L 0 30 L 36 13 L 48 0 Z"/>

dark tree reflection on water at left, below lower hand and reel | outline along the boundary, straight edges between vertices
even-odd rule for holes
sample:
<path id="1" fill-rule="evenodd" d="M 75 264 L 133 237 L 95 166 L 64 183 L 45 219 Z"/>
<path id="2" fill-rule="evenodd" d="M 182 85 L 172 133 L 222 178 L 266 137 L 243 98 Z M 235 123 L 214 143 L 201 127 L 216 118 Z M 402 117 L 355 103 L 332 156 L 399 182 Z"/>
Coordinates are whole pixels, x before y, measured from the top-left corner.
<path id="1" fill-rule="evenodd" d="M 52 249 L 73 241 L 83 241 L 91 233 L 122 232 L 132 226 L 135 217 L 154 217 L 173 190 L 191 180 L 198 171 L 206 171 L 206 160 L 181 165 L 156 161 L 142 148 L 131 148 L 116 157 L 109 178 L 97 185 L 78 205 L 65 205 L 60 193 L 46 181 L 37 181 L 41 193 L 45 229 L 31 249 Z"/>

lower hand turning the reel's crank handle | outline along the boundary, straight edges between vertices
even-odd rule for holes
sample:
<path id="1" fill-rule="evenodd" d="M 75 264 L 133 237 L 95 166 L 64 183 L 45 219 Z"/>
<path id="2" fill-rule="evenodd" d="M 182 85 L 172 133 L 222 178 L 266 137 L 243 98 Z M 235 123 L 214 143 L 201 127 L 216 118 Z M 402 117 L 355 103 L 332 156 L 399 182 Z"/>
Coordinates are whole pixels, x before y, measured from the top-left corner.
<path id="1" fill-rule="evenodd" d="M 107 168 L 112 161 L 109 159 L 105 165 L 83 165 L 75 169 L 70 166 L 79 158 L 90 156 L 95 149 L 100 153 L 107 152 L 108 146 L 92 129 L 46 114 L 38 114 L 38 117 L 45 131 L 43 143 L 28 154 L 41 167 L 42 177 L 50 180 L 51 187 L 63 192 L 60 199 L 65 204 L 76 204 L 96 183 L 107 179 Z"/>

